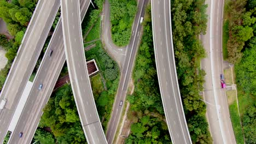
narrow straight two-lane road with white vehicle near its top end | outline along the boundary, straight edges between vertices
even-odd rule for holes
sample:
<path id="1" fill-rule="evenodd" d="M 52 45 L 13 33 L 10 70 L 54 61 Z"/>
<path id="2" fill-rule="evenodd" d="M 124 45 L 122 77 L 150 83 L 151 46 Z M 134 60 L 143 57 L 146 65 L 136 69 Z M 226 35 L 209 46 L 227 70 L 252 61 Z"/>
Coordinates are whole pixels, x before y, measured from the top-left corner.
<path id="1" fill-rule="evenodd" d="M 139 23 L 139 19 L 141 17 L 144 17 L 147 3 L 148 3 L 148 0 L 138 1 L 137 14 L 133 22 L 131 40 L 129 45 L 127 46 L 125 60 L 122 67 L 123 69 L 121 71 L 118 92 L 113 104 L 111 118 L 108 122 L 108 128 L 107 128 L 107 134 L 106 134 L 108 143 L 113 143 L 114 136 L 115 136 L 115 133 L 117 132 L 118 124 L 121 118 L 121 112 L 122 112 L 123 106 L 120 107 L 119 102 L 120 100 L 125 101 L 125 98 L 126 98 L 127 87 L 128 87 L 129 79 L 131 76 L 133 64 L 135 62 L 136 52 L 139 46 L 139 41 L 140 41 L 139 38 L 141 36 L 140 32 L 142 29 L 142 25 L 141 23 Z M 106 9 L 107 7 L 104 7 L 104 8 Z"/>

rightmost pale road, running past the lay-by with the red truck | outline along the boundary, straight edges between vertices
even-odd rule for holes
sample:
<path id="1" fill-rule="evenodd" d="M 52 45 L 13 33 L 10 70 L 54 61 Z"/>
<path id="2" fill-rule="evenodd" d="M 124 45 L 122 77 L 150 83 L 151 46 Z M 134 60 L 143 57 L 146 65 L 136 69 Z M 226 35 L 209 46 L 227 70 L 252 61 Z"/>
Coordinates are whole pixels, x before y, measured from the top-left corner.
<path id="1" fill-rule="evenodd" d="M 207 57 L 202 59 L 201 67 L 207 74 L 203 92 L 207 102 L 207 119 L 213 143 L 236 143 L 225 89 L 222 89 L 220 85 L 220 74 L 223 74 L 223 0 L 207 0 L 206 4 L 208 4 L 207 14 L 210 16 L 210 20 L 207 23 L 206 35 L 201 35 L 203 46 L 207 52 Z"/>

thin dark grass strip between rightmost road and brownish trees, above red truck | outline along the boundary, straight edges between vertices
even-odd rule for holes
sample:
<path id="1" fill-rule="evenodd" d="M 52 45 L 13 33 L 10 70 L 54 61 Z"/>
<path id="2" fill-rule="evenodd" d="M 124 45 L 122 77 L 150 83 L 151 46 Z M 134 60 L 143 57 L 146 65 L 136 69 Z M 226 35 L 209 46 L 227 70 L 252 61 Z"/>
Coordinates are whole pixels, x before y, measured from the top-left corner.
<path id="1" fill-rule="evenodd" d="M 229 40 L 229 21 L 225 20 L 223 25 L 223 43 L 222 43 L 224 60 L 228 59 L 228 49 L 227 49 L 228 40 Z"/>

